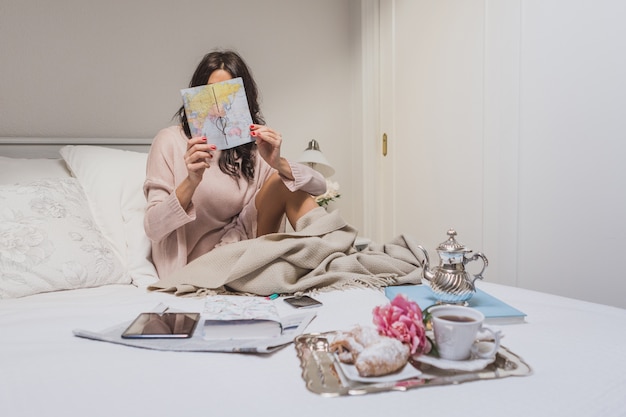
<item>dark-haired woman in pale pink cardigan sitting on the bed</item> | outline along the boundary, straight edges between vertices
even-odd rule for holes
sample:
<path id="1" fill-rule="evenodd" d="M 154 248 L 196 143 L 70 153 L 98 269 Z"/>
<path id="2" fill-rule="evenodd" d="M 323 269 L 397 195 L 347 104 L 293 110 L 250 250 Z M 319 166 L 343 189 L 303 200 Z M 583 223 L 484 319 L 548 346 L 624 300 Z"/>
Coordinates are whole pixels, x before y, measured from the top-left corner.
<path id="1" fill-rule="evenodd" d="M 216 246 L 278 232 L 284 216 L 295 227 L 317 207 L 310 196 L 326 191 L 321 174 L 281 157 L 281 135 L 264 125 L 256 83 L 237 53 L 207 54 L 189 87 L 237 77 L 255 142 L 219 151 L 206 137 L 191 137 L 181 106 L 180 125 L 161 130 L 150 148 L 144 226 L 161 278 Z"/>

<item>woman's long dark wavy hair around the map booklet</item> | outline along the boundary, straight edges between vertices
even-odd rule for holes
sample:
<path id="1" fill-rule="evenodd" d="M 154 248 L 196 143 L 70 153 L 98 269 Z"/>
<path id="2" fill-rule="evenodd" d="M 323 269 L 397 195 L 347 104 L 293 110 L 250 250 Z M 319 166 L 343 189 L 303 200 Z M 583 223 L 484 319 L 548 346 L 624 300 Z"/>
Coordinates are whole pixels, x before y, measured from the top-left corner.
<path id="1" fill-rule="evenodd" d="M 193 73 L 191 81 L 189 82 L 189 88 L 206 85 L 209 81 L 209 76 L 213 71 L 218 69 L 227 71 L 233 78 L 241 77 L 243 79 L 243 86 L 246 89 L 252 121 L 255 124 L 265 124 L 259 107 L 259 93 L 256 83 L 243 58 L 234 51 L 214 51 L 206 54 Z M 185 107 L 181 106 L 174 117 L 178 117 L 185 131 L 185 135 L 191 138 L 191 130 L 189 129 L 189 122 L 185 114 Z M 256 144 L 254 142 L 250 142 L 235 148 L 223 150 L 218 162 L 222 172 L 235 178 L 243 174 L 248 181 L 252 181 L 254 178 L 255 146 Z M 241 162 L 238 162 L 239 159 L 241 159 Z"/>

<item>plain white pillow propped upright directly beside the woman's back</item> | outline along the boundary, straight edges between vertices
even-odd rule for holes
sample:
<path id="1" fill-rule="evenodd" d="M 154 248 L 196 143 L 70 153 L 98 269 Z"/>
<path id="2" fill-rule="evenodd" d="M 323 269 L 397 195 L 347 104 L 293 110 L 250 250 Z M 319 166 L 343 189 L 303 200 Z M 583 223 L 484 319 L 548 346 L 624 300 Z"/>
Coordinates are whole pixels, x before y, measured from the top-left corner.
<path id="1" fill-rule="evenodd" d="M 158 281 L 151 243 L 143 228 L 147 153 L 68 145 L 61 156 L 83 186 L 94 219 L 128 269 L 133 284 Z"/>

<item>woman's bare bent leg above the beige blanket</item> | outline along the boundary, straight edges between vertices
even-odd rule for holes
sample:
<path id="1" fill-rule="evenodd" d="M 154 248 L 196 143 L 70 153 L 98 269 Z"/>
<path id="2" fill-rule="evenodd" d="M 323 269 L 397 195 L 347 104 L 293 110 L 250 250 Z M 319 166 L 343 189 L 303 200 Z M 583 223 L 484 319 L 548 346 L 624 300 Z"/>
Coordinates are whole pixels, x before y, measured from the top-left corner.
<path id="1" fill-rule="evenodd" d="M 278 232 L 285 214 L 295 228 L 298 219 L 315 207 L 318 205 L 309 194 L 289 191 L 278 174 L 274 174 L 256 195 L 257 236 Z"/>

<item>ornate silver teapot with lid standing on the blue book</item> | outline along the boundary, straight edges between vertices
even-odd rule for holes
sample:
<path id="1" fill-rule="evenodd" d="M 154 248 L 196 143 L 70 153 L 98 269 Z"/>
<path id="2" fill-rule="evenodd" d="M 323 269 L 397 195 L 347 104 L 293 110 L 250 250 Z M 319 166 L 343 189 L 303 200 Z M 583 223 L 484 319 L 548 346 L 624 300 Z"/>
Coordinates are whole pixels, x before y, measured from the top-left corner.
<path id="1" fill-rule="evenodd" d="M 418 245 L 424 254 L 422 277 L 429 281 L 430 289 L 437 299 L 437 303 L 466 304 L 476 293 L 474 281 L 483 279 L 482 274 L 489 262 L 482 253 L 477 252 L 472 256 L 471 249 L 458 243 L 454 238 L 456 236 L 454 229 L 448 230 L 448 236 L 448 240 L 437 247 L 439 266 L 432 269 L 430 268 L 428 252 Z M 465 265 L 478 258 L 482 259 L 483 268 L 478 274 L 472 276 L 465 270 Z"/>

